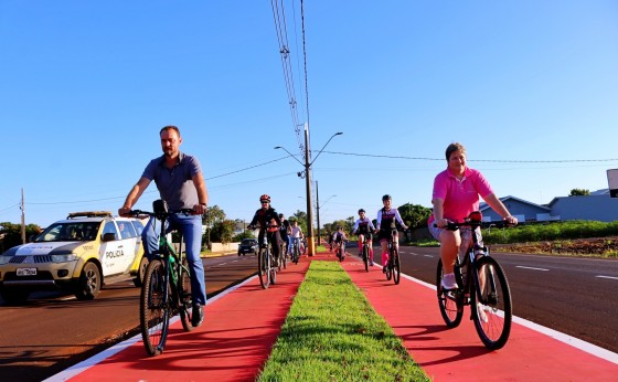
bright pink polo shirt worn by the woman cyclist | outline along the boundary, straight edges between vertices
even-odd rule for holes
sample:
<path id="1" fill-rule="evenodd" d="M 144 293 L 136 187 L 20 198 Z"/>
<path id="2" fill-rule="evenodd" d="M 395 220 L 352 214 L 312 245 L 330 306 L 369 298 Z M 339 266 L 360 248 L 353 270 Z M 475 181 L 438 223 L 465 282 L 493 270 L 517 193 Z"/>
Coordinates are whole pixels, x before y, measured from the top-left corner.
<path id="1" fill-rule="evenodd" d="M 491 185 L 480 171 L 466 168 L 464 178 L 458 180 L 448 169 L 436 176 L 431 199 L 444 201 L 444 217 L 462 222 L 470 212 L 479 210 L 479 194 L 484 199 L 493 193 Z M 429 217 L 429 225 L 434 215 Z"/>

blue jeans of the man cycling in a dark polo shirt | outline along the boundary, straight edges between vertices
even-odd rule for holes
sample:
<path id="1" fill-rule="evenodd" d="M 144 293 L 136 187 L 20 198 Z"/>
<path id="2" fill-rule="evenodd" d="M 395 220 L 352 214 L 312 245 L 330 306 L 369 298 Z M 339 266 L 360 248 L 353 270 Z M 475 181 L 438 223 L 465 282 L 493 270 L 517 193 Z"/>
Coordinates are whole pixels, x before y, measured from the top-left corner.
<path id="1" fill-rule="evenodd" d="M 154 217 L 150 217 L 141 240 L 145 255 L 152 259 L 151 254 L 159 250 L 159 231 L 154 227 Z M 160 222 L 159 222 L 160 223 Z M 178 230 L 184 237 L 187 245 L 187 262 L 191 270 L 191 294 L 193 304 L 206 304 L 206 282 L 204 279 L 204 264 L 200 257 L 202 250 L 202 217 L 199 215 L 173 214 L 167 222 L 166 233 Z"/>

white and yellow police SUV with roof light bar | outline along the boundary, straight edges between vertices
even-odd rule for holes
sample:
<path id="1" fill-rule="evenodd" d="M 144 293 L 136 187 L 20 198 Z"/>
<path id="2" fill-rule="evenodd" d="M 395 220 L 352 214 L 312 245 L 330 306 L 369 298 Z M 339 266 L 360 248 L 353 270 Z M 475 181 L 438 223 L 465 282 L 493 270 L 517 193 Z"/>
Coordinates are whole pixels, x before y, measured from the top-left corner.
<path id="1" fill-rule="evenodd" d="M 111 212 L 70 213 L 32 243 L 0 255 L 0 295 L 12 304 L 35 290 L 70 290 L 77 299 L 94 299 L 115 275 L 132 275 L 139 286 L 148 265 L 142 230 L 140 220 Z"/>

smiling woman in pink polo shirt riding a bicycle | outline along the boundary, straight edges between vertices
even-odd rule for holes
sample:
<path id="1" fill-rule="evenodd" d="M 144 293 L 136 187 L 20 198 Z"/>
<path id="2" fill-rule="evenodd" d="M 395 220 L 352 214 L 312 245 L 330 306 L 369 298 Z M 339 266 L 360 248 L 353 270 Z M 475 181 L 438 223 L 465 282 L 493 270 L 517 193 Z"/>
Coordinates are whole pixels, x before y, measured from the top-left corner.
<path id="1" fill-rule="evenodd" d="M 466 148 L 462 145 L 450 144 L 446 149 L 446 160 L 447 169 L 434 180 L 434 213 L 428 225 L 431 235 L 440 242 L 443 288 L 455 289 L 455 259 L 460 247 L 468 247 L 471 235 L 469 229 L 446 230 L 448 222 L 464 222 L 470 212 L 478 211 L 479 195 L 509 224 L 518 224 L 518 220 L 511 216 L 509 210 L 496 197 L 482 173 L 466 166 Z M 434 223 L 437 226 L 434 226 Z M 482 242 L 480 244 L 482 245 Z"/>

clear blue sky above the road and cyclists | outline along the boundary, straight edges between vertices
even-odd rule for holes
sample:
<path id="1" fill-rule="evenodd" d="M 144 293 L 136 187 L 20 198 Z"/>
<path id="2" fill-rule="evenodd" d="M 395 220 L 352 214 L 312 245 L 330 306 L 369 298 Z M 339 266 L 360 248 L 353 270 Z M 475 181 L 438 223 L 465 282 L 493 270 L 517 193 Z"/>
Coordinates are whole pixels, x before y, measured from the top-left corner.
<path id="1" fill-rule="evenodd" d="M 313 163 L 321 223 L 375 217 L 384 193 L 430 206 L 454 141 L 534 203 L 618 168 L 616 1 L 307 0 L 307 87 L 300 2 L 283 6 L 297 121 L 315 151 L 343 132 Z M 166 125 L 227 217 L 263 193 L 306 211 L 302 167 L 274 149 L 299 153 L 279 50 L 269 1 L 0 2 L 0 222 L 22 189 L 26 223 L 116 212 Z"/>

